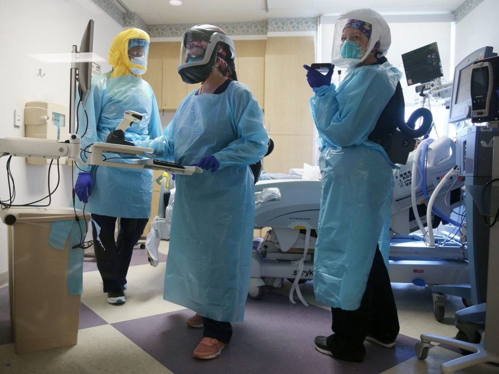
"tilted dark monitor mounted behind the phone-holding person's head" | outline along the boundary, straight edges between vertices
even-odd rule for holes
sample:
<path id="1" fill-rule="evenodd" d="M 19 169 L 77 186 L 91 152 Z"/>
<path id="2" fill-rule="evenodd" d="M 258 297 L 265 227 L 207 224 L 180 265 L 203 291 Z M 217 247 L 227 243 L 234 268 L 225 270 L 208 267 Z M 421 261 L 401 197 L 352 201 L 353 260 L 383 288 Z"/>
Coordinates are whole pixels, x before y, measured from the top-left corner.
<path id="1" fill-rule="evenodd" d="M 402 54 L 407 85 L 426 83 L 444 75 L 437 42 Z"/>

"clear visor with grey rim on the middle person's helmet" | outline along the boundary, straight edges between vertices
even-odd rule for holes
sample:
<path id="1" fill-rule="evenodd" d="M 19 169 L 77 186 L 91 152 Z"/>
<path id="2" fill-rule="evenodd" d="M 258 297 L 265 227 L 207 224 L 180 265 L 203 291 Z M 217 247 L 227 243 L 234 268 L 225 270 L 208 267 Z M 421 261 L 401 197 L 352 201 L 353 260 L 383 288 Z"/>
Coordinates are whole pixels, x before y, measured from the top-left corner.
<path id="1" fill-rule="evenodd" d="M 213 52 L 219 42 L 229 45 L 232 58 L 235 57 L 234 43 L 227 36 L 214 32 L 209 38 L 206 34 L 196 30 L 189 30 L 182 35 L 180 60 L 178 70 L 185 67 L 203 66 L 210 62 Z"/>

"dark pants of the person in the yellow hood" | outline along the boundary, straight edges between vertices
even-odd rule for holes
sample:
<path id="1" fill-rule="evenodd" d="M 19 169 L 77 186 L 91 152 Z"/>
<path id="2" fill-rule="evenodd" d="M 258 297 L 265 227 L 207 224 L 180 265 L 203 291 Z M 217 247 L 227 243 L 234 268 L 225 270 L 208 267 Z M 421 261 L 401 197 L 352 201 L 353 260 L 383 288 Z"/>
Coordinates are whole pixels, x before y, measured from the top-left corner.
<path id="1" fill-rule="evenodd" d="M 144 232 L 148 219 L 121 218 L 120 231 L 116 241 L 114 240 L 116 217 L 92 213 L 92 219 L 100 226 L 98 239 L 102 245 L 97 240 L 97 230 L 92 222 L 95 259 L 104 284 L 104 292 L 121 291 L 126 284 L 133 247 Z"/>

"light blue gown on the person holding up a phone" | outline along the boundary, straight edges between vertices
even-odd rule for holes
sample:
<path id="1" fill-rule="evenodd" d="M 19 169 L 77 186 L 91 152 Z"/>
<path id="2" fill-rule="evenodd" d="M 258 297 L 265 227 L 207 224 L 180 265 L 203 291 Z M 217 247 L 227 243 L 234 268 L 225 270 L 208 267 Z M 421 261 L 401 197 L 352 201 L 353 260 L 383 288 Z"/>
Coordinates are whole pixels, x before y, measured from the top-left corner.
<path id="1" fill-rule="evenodd" d="M 395 165 L 367 137 L 401 76 L 388 62 L 357 67 L 310 99 L 323 144 L 313 285 L 316 300 L 333 308 L 359 308 L 378 241 L 388 269 Z"/>

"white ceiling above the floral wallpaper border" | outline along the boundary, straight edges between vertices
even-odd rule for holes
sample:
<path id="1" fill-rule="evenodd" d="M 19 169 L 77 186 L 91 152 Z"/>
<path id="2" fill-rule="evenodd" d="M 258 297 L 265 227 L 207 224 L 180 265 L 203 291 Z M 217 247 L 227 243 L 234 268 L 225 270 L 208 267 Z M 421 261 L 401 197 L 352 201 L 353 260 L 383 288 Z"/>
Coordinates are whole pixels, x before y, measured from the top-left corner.
<path id="1" fill-rule="evenodd" d="M 465 0 L 183 0 L 180 6 L 168 0 L 112 1 L 146 24 L 175 24 L 317 17 L 356 8 L 373 8 L 383 15 L 448 14 Z"/>

